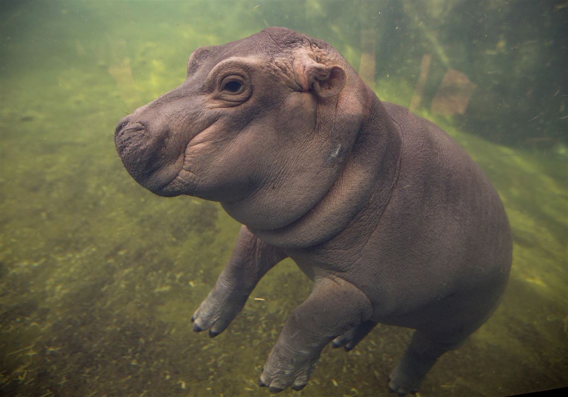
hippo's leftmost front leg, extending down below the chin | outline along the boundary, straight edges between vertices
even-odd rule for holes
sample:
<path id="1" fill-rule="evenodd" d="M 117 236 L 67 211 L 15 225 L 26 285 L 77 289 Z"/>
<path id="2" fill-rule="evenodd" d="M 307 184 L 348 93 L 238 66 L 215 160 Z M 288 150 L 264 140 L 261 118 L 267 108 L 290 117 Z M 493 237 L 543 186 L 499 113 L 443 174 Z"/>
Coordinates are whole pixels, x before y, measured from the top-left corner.
<path id="1" fill-rule="evenodd" d="M 258 280 L 286 254 L 257 239 L 247 227 L 241 227 L 227 267 L 215 287 L 191 316 L 193 330 L 209 328 L 209 336 L 223 332 L 241 309 Z"/>

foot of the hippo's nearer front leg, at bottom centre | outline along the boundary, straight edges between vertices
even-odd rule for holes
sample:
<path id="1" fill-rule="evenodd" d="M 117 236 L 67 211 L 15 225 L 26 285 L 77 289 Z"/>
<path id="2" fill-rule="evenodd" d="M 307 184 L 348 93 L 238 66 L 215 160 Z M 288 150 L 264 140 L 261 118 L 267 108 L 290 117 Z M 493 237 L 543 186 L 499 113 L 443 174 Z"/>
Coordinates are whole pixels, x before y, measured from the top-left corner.
<path id="1" fill-rule="evenodd" d="M 302 390 L 314 372 L 319 354 L 305 353 L 293 357 L 281 352 L 275 347 L 266 361 L 258 386 L 268 387 L 270 392 L 277 393 L 291 386 L 294 390 Z"/>

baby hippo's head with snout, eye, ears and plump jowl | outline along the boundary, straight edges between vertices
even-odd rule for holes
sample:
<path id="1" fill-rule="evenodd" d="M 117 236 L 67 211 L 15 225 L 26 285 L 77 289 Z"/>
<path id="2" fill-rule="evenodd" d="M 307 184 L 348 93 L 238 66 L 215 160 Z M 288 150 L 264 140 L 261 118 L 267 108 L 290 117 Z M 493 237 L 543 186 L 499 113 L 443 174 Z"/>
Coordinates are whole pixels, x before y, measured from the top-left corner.
<path id="1" fill-rule="evenodd" d="M 157 195 L 219 201 L 278 229 L 337 179 L 368 113 L 364 87 L 330 45 L 267 28 L 195 50 L 181 86 L 120 120 L 116 149 Z"/>

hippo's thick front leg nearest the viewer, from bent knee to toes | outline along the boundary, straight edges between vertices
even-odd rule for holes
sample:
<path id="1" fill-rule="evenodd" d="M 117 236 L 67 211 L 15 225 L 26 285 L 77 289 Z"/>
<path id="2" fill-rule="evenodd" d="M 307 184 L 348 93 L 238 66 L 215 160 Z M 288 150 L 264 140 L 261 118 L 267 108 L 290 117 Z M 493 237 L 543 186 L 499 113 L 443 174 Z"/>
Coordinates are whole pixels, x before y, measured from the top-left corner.
<path id="1" fill-rule="evenodd" d="M 372 311 L 366 295 L 343 278 L 316 278 L 310 297 L 286 321 L 258 385 L 272 392 L 302 389 L 325 345 L 365 322 Z"/>

